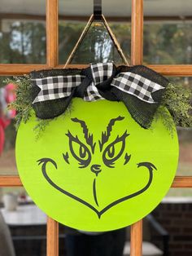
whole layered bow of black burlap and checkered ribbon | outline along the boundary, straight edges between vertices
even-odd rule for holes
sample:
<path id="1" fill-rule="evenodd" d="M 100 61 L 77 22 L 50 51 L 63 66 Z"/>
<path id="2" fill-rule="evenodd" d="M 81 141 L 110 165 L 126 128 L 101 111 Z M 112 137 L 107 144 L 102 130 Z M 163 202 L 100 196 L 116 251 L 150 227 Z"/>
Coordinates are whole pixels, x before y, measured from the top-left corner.
<path id="1" fill-rule="evenodd" d="M 59 102 L 57 100 L 62 100 L 63 103 L 68 101 L 69 104 L 72 97 L 81 97 L 88 102 L 98 99 L 123 101 L 133 118 L 144 128 L 151 125 L 156 108 L 168 84 L 165 77 L 145 66 L 116 68 L 112 63 L 90 64 L 89 68 L 82 69 L 80 73 L 75 74 L 66 75 L 65 69 L 63 72 L 59 70 L 59 74 L 55 72 L 54 75 L 48 74 L 43 77 L 38 77 L 37 73 L 32 73 L 33 86 L 37 91 L 33 97 L 35 110 L 39 104 L 49 102 L 50 106 L 51 102 L 57 104 Z M 66 108 L 68 104 L 64 103 Z M 146 120 L 143 120 L 141 108 L 146 109 L 146 106 L 148 108 L 144 115 Z M 137 112 L 141 113 L 138 115 Z M 36 114 L 38 117 L 37 111 Z M 55 113 L 53 117 L 59 114 Z M 42 114 L 41 118 L 51 117 Z"/>

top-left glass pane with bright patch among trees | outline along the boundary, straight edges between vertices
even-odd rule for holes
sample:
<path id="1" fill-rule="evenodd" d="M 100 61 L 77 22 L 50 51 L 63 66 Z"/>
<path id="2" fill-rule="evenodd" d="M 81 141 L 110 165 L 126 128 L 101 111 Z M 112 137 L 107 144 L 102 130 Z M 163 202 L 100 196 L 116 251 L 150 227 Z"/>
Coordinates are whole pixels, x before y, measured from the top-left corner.
<path id="1" fill-rule="evenodd" d="M 2 1 L 0 63 L 46 63 L 46 0 Z"/>

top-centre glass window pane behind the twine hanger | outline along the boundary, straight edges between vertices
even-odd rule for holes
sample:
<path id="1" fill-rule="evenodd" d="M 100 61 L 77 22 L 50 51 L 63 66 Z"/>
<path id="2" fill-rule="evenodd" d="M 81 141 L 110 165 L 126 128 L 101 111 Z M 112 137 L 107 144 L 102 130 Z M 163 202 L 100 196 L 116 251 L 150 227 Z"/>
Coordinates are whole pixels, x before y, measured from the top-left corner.
<path id="1" fill-rule="evenodd" d="M 74 5 L 76 7 L 74 7 Z M 124 8 L 120 8 L 120 5 Z M 81 36 L 89 16 L 93 13 L 93 2 L 59 1 L 59 64 L 64 64 Z M 130 27 L 131 1 L 103 2 L 103 14 L 116 35 L 124 55 L 130 62 Z M 120 21 L 120 22 L 118 22 Z M 114 60 L 122 64 L 116 48 L 103 24 L 95 22 L 78 48 L 72 64 L 89 64 Z"/>

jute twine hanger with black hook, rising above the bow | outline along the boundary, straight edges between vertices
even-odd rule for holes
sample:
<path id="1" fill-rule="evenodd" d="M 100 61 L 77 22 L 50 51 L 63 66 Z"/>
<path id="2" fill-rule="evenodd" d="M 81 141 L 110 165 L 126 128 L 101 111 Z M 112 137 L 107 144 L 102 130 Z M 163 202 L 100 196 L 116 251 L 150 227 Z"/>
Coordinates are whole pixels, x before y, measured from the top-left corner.
<path id="1" fill-rule="evenodd" d="M 102 0 L 94 0 L 94 14 L 90 15 L 88 23 L 85 25 L 85 29 L 81 33 L 81 36 L 78 39 L 78 41 L 76 42 L 76 45 L 74 46 L 74 48 L 72 49 L 72 52 L 68 56 L 68 60 L 66 61 L 66 64 L 64 65 L 63 68 L 66 68 L 67 65 L 72 62 L 78 47 L 81 45 L 81 42 L 85 38 L 86 34 L 89 31 L 89 28 L 90 28 L 91 24 L 93 24 L 94 21 L 102 22 L 104 24 L 105 28 L 107 29 L 107 33 L 110 35 L 110 38 L 111 38 L 114 46 L 116 47 L 116 50 L 118 51 L 121 59 L 124 60 L 124 64 L 129 66 L 129 61 L 124 56 L 124 52 L 122 51 L 122 49 L 120 47 L 120 44 L 116 39 L 115 34 L 112 33 L 111 28 L 110 28 L 109 24 L 107 23 L 107 20 L 105 19 L 104 15 L 102 13 Z"/>

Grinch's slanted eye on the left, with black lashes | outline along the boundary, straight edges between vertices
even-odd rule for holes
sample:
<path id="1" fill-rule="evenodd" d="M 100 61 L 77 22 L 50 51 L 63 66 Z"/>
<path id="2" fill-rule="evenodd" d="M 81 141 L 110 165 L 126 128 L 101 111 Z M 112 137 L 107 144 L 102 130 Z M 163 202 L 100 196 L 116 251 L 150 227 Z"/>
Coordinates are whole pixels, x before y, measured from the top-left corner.
<path id="1" fill-rule="evenodd" d="M 69 148 L 72 153 L 72 157 L 74 157 L 76 161 L 79 162 L 80 168 L 89 166 L 91 161 L 91 153 L 89 152 L 89 148 L 87 148 L 85 144 L 78 139 L 77 136 L 74 137 L 70 131 L 68 131 L 68 134 L 66 135 L 69 138 Z"/>

